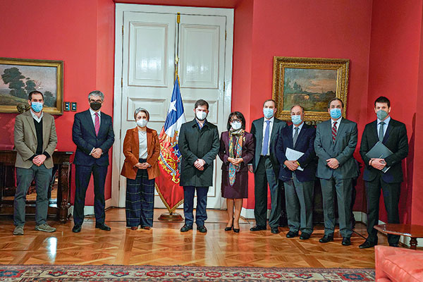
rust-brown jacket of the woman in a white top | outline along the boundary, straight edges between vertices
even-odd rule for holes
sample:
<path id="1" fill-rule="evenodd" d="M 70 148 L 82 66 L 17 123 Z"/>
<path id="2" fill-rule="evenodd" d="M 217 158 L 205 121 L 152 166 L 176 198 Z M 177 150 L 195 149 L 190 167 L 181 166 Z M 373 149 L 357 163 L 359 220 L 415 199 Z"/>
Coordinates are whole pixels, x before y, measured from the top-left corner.
<path id="1" fill-rule="evenodd" d="M 135 164 L 140 159 L 140 140 L 138 138 L 138 128 L 131 128 L 126 131 L 125 140 L 123 140 L 123 154 L 125 155 L 125 162 L 123 163 L 121 176 L 135 179 L 138 168 Z M 147 128 L 147 163 L 150 165 L 147 168 L 148 178 L 154 179 L 159 176 L 159 164 L 157 160 L 160 154 L 160 143 L 157 131 Z"/>

